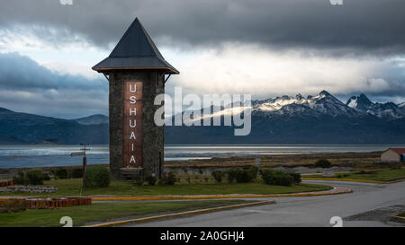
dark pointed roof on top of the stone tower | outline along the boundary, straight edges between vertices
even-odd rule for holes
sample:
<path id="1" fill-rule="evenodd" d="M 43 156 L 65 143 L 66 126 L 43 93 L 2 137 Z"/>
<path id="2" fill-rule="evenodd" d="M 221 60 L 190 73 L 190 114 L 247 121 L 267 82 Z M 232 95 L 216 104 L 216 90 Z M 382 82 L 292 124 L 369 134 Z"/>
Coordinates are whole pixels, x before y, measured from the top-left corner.
<path id="1" fill-rule="evenodd" d="M 167 74 L 179 74 L 160 54 L 138 18 L 130 24 L 109 57 L 92 67 L 97 72 L 121 69 L 162 69 Z"/>

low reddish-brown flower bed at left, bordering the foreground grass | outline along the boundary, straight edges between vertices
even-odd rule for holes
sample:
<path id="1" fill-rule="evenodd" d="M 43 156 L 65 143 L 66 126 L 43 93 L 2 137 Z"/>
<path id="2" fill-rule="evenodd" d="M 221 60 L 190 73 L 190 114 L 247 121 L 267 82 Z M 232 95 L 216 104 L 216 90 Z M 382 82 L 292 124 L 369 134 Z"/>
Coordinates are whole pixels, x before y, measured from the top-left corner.
<path id="1" fill-rule="evenodd" d="M 25 206 L 31 209 L 58 208 L 65 206 L 91 205 L 91 197 L 45 197 L 27 198 L 24 200 Z"/>

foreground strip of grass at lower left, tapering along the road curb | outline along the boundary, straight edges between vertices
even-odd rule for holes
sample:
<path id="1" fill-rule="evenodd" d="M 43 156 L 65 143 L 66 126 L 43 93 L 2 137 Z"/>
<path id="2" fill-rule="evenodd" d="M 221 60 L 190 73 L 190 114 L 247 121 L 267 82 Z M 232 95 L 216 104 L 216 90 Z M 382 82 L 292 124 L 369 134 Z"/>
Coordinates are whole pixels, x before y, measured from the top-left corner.
<path id="1" fill-rule="evenodd" d="M 80 226 L 85 223 L 103 222 L 128 216 L 151 216 L 240 203 L 247 203 L 247 201 L 118 202 L 94 203 L 90 206 L 71 206 L 58 209 L 28 209 L 20 213 L 0 214 L 0 227 L 62 226 L 59 224 L 59 220 L 63 216 L 71 217 L 73 225 Z"/>

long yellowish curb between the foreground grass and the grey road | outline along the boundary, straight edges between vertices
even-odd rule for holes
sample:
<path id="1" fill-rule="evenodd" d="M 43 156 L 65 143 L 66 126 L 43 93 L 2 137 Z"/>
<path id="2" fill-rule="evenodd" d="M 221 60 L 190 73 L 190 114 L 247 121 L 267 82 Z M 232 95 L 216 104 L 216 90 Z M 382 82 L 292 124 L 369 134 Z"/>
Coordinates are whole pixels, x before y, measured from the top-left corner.
<path id="1" fill-rule="evenodd" d="M 247 206 L 259 206 L 259 205 L 266 205 L 266 204 L 275 204 L 275 201 L 270 200 L 270 201 L 260 201 L 260 202 L 254 202 L 254 203 L 248 203 L 248 204 L 217 206 L 217 207 L 197 209 L 197 210 L 193 210 L 193 211 L 186 211 L 186 212 L 175 213 L 175 214 L 163 214 L 163 215 L 138 218 L 138 219 L 130 219 L 130 220 L 124 220 L 124 221 L 97 223 L 97 224 L 92 224 L 92 225 L 85 225 L 84 227 L 108 227 L 108 226 L 113 226 L 113 225 L 121 225 L 121 224 L 125 224 L 125 223 L 143 223 L 143 222 L 150 222 L 150 221 L 184 216 L 184 215 L 204 214 L 204 213 L 210 213 L 210 212 L 215 212 L 215 211 L 220 211 L 220 210 L 227 210 L 227 209 L 247 207 Z"/>

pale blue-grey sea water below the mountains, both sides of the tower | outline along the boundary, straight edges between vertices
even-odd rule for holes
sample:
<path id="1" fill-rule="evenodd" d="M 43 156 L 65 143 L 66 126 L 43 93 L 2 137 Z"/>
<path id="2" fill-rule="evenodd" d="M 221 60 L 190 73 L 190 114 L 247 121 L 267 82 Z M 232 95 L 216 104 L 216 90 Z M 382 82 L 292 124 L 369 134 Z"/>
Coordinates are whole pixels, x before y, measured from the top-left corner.
<path id="1" fill-rule="evenodd" d="M 383 151 L 404 145 L 382 144 L 238 144 L 238 145 L 165 145 L 165 160 L 207 159 L 212 157 L 255 156 L 293 153 L 345 153 Z M 29 168 L 44 166 L 81 165 L 81 156 L 70 156 L 80 151 L 80 145 L 0 145 L 0 168 Z M 109 162 L 108 145 L 90 145 L 86 153 L 88 164 Z"/>

